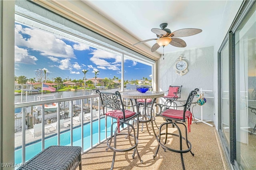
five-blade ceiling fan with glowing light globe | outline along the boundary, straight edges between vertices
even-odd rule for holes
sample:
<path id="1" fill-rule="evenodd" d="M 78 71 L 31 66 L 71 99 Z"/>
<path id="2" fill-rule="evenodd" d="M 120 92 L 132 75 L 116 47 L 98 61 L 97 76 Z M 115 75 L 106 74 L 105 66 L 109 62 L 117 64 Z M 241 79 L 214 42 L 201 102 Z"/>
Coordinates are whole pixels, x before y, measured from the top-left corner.
<path id="1" fill-rule="evenodd" d="M 187 37 L 187 36 L 193 36 L 196 35 L 202 30 L 196 29 L 196 28 L 184 28 L 180 30 L 176 30 L 174 32 L 171 32 L 170 29 L 166 28 L 167 23 L 160 24 L 160 28 L 152 28 L 151 31 L 156 34 L 157 38 L 152 38 L 148 40 L 144 40 L 138 43 L 135 43 L 133 45 L 138 45 L 140 43 L 149 42 L 152 40 L 156 40 L 156 43 L 151 47 L 151 51 L 156 51 L 161 46 L 166 46 L 168 44 L 173 45 L 175 47 L 186 47 L 187 44 L 184 42 L 184 40 L 178 38 L 178 37 Z"/>

